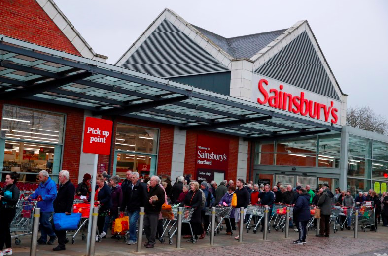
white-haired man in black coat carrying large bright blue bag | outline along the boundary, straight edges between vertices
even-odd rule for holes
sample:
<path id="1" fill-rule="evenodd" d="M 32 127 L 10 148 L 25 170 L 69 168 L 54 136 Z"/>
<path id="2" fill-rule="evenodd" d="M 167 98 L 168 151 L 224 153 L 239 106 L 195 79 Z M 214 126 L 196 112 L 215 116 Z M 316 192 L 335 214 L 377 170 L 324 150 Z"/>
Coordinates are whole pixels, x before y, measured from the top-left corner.
<path id="1" fill-rule="evenodd" d="M 59 189 L 57 197 L 53 202 L 54 213 L 71 213 L 71 208 L 74 203 L 74 192 L 75 187 L 69 180 L 69 172 L 62 170 L 59 172 Z M 58 246 L 53 248 L 53 251 L 65 250 L 65 244 L 69 242 L 69 239 L 66 237 L 66 230 L 56 230 L 55 225 L 54 232 L 58 237 Z"/>

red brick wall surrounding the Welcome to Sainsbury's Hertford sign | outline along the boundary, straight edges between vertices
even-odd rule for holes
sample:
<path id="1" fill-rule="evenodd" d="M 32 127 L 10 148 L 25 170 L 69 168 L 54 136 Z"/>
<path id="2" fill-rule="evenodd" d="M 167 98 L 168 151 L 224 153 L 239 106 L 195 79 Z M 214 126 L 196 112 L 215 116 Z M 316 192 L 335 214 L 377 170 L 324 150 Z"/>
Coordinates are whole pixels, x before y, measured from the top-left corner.
<path id="1" fill-rule="evenodd" d="M 191 131 L 188 130 L 186 134 L 186 151 L 184 157 L 184 174 L 191 174 L 195 178 L 195 160 L 197 148 L 197 136 L 204 134 L 214 138 L 229 139 L 229 160 L 228 170 L 225 173 L 224 179 L 236 180 L 237 177 L 237 160 L 239 150 L 239 138 L 235 136 L 224 135 L 210 131 Z"/>

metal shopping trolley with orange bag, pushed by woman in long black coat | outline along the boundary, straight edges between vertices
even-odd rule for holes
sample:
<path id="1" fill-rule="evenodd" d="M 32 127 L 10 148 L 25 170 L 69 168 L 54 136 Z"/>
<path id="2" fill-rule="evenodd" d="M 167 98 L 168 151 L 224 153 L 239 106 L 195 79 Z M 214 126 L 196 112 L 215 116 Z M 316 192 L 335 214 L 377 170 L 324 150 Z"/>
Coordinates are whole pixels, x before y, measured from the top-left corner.
<path id="1" fill-rule="evenodd" d="M 190 220 L 191 220 L 191 216 L 193 215 L 193 212 L 194 212 L 194 208 L 188 208 L 188 207 L 184 207 L 182 208 L 182 223 L 187 223 L 190 227 L 190 232 L 191 232 L 191 236 L 192 236 L 192 242 L 193 244 L 197 241 L 196 239 L 194 239 L 194 234 L 193 234 L 193 229 L 191 228 L 191 224 L 190 224 Z M 163 230 L 163 233 L 160 237 L 160 242 L 164 243 L 164 235 L 167 231 L 167 229 L 169 229 L 169 226 L 171 224 L 171 227 L 168 231 L 168 237 L 169 237 L 169 244 L 173 244 L 173 236 L 175 235 L 178 227 L 177 227 L 177 220 L 178 220 L 178 208 L 172 208 L 171 210 L 162 210 L 162 216 L 163 216 L 163 219 L 166 219 L 166 220 L 169 220 L 169 224 L 167 224 L 166 228 Z M 171 233 L 171 230 L 173 230 L 173 228 L 175 227 L 174 231 Z"/>

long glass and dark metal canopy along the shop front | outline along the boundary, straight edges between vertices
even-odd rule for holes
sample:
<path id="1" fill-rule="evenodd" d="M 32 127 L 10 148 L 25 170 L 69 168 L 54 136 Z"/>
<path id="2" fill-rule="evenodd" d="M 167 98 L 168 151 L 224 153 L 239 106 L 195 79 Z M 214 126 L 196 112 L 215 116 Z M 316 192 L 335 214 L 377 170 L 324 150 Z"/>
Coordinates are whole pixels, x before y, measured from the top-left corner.
<path id="1" fill-rule="evenodd" d="M 249 140 L 341 131 L 339 125 L 0 35 L 0 99 L 14 98 Z"/>

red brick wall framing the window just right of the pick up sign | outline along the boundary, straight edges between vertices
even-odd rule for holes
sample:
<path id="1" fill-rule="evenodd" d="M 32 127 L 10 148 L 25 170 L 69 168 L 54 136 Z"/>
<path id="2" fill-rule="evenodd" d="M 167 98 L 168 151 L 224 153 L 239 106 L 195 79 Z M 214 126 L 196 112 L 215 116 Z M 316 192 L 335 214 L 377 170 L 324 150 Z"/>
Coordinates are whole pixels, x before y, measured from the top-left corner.
<path id="1" fill-rule="evenodd" d="M 111 120 L 110 117 L 103 117 L 104 119 Z M 117 117 L 114 121 L 114 130 L 116 130 L 117 123 L 124 123 L 129 125 L 144 126 L 149 128 L 158 128 L 160 129 L 159 134 L 159 152 L 158 152 L 158 162 L 157 162 L 157 174 L 158 175 L 170 175 L 171 174 L 171 161 L 173 156 L 173 141 L 174 141 L 174 126 L 143 121 L 140 119 L 126 118 L 126 117 Z M 116 136 L 116 133 L 113 133 L 113 136 Z M 115 141 L 115 138 L 113 138 Z M 111 152 L 111 173 L 113 170 L 113 157 L 114 149 Z M 108 166 L 109 156 L 99 156 L 98 163 L 105 163 Z M 107 170 L 106 170 L 107 171 Z"/>

